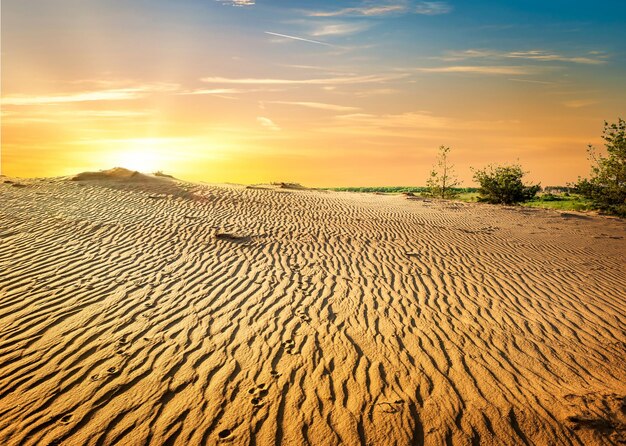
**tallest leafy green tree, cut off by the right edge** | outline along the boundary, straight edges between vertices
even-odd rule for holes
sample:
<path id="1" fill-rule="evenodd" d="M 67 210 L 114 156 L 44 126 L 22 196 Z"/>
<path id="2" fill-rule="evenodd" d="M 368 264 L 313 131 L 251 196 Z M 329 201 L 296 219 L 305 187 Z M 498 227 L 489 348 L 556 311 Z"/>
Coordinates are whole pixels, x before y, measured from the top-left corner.
<path id="1" fill-rule="evenodd" d="M 605 121 L 602 139 L 607 156 L 598 155 L 591 144 L 587 147 L 593 162 L 591 178 L 579 178 L 576 191 L 591 199 L 596 208 L 626 216 L 626 121 Z"/>

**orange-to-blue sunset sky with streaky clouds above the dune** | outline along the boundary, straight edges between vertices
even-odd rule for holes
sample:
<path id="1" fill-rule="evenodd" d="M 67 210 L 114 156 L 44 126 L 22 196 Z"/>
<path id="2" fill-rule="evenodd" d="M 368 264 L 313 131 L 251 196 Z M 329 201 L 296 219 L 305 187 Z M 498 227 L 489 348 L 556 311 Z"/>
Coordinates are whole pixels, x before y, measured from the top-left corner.
<path id="1" fill-rule="evenodd" d="M 626 117 L 622 0 L 3 0 L 2 173 L 563 185 Z"/>

